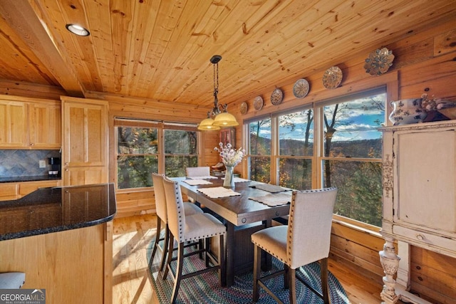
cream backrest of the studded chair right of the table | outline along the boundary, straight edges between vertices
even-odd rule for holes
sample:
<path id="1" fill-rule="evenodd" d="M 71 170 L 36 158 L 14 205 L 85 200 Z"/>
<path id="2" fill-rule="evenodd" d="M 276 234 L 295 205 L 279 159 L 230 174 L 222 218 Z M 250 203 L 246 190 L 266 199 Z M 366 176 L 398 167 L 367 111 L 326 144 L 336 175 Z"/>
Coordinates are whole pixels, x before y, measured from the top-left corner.
<path id="1" fill-rule="evenodd" d="M 336 187 L 293 192 L 286 237 L 290 268 L 329 256 L 336 195 Z"/>

